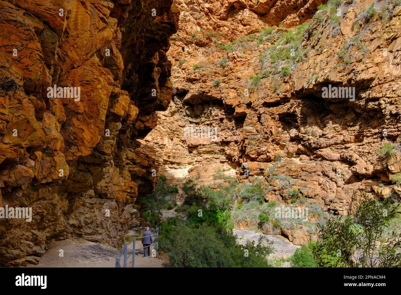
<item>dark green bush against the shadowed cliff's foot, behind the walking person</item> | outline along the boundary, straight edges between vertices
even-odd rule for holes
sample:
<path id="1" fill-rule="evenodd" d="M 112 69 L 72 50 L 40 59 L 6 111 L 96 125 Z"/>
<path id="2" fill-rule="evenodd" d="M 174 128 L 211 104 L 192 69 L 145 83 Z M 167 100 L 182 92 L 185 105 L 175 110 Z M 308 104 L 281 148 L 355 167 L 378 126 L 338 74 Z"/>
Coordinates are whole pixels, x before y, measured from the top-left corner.
<path id="1" fill-rule="evenodd" d="M 143 207 L 146 208 L 144 210 L 144 220 L 153 225 L 155 220 L 160 219 L 161 211 L 166 208 L 168 204 L 167 197 L 174 199 L 177 193 L 177 186 L 170 185 L 166 181 L 166 176 L 160 175 L 153 193 L 139 199 Z"/>

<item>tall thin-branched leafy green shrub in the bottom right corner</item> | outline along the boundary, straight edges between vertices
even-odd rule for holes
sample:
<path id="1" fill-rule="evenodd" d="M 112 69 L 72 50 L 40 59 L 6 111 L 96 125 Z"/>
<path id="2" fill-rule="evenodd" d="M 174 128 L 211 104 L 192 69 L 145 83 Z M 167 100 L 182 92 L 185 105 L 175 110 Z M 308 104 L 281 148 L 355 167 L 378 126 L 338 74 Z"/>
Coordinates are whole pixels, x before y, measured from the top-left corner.
<path id="1" fill-rule="evenodd" d="M 391 197 L 378 201 L 361 191 L 350 216 L 337 216 L 319 226 L 318 242 L 311 246 L 320 267 L 401 267 L 401 234 L 380 238 L 396 218 L 399 203 Z M 352 197 L 352 202 L 356 194 Z"/>

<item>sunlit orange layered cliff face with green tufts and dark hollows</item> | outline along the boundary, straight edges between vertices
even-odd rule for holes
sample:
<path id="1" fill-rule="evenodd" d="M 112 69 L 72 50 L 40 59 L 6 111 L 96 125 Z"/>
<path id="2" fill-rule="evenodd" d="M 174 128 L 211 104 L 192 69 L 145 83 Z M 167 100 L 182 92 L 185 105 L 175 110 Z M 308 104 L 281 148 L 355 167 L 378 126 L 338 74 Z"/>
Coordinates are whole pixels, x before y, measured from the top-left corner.
<path id="1" fill-rule="evenodd" d="M 400 193 L 401 6 L 350 0 L 315 14 L 322 2 L 178 1 L 175 95 L 144 140 L 159 173 L 257 176 L 269 201 L 297 189 L 343 215 L 357 189 Z M 386 142 L 392 155 L 379 154 Z"/>

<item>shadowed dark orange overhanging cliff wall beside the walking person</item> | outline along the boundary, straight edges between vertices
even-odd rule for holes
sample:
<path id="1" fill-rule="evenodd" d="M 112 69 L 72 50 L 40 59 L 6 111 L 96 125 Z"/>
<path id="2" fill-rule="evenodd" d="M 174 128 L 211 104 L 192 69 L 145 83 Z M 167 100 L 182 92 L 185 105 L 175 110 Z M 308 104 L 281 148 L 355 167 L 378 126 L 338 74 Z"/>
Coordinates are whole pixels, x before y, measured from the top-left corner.
<path id="1" fill-rule="evenodd" d="M 0 265 L 71 235 L 120 246 L 139 224 L 154 158 L 137 139 L 170 102 L 178 16 L 172 0 L 0 1 L 0 207 L 32 208 L 0 219 Z"/>

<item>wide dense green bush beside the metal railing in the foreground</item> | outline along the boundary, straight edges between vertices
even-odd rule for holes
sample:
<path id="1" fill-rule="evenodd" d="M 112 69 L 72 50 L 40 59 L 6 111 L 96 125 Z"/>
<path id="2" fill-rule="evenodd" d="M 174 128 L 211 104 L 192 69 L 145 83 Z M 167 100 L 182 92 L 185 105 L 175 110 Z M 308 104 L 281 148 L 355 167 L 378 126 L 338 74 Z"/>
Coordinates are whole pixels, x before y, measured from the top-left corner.
<path id="1" fill-rule="evenodd" d="M 269 267 L 272 244 L 263 237 L 256 245 L 248 241 L 241 246 L 232 232 L 221 226 L 190 224 L 177 218 L 162 222 L 159 235 L 159 249 L 168 253 L 171 267 Z"/>

